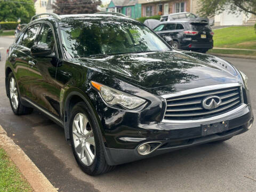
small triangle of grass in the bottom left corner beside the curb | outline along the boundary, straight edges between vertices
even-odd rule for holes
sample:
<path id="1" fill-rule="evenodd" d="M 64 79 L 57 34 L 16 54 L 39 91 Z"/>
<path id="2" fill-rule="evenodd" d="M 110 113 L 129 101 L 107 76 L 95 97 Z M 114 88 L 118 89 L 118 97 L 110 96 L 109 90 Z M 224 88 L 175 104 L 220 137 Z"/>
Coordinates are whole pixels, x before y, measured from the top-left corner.
<path id="1" fill-rule="evenodd" d="M 30 192 L 29 183 L 22 177 L 5 151 L 0 148 L 0 191 Z"/>

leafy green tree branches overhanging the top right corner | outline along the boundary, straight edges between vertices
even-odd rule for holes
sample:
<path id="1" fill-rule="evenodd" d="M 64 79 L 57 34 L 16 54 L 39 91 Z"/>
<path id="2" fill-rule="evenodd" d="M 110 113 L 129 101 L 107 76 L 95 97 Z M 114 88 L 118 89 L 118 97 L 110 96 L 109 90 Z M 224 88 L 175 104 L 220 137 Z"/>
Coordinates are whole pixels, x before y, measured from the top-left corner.
<path id="1" fill-rule="evenodd" d="M 230 13 L 237 11 L 256 15 L 256 0 L 200 0 L 198 14 L 212 17 L 215 14 L 229 10 Z"/>

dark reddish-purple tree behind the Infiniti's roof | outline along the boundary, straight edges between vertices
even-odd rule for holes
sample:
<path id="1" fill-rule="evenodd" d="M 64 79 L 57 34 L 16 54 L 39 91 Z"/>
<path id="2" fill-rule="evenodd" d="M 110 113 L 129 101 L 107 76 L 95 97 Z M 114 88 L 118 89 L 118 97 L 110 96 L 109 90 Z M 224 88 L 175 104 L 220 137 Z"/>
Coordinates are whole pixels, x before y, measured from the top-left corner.
<path id="1" fill-rule="evenodd" d="M 53 5 L 57 14 L 85 14 L 96 13 L 100 0 L 57 0 Z"/>

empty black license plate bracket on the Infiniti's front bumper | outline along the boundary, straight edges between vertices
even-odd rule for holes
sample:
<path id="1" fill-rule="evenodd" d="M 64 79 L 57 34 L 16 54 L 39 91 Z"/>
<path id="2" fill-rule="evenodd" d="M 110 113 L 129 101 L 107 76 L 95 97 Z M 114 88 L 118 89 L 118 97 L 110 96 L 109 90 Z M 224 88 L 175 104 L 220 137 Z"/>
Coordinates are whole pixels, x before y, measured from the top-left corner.
<path id="1" fill-rule="evenodd" d="M 223 131 L 228 130 L 228 121 L 222 121 L 222 122 L 217 122 L 217 123 L 210 123 L 210 124 L 202 124 L 202 135 L 210 135 L 214 133 L 221 133 Z"/>

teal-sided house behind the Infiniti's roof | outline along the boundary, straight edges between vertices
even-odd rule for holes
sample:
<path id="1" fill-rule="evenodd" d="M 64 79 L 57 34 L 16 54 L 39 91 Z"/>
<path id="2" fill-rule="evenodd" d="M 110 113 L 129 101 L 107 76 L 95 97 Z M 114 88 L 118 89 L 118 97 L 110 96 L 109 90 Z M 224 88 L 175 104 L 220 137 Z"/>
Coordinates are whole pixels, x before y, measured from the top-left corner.
<path id="1" fill-rule="evenodd" d="M 108 12 L 118 12 L 132 19 L 141 17 L 141 4 L 138 0 L 111 0 L 107 7 Z"/>

